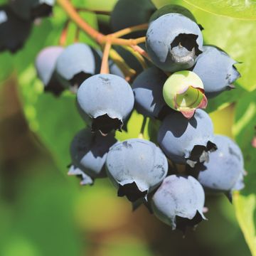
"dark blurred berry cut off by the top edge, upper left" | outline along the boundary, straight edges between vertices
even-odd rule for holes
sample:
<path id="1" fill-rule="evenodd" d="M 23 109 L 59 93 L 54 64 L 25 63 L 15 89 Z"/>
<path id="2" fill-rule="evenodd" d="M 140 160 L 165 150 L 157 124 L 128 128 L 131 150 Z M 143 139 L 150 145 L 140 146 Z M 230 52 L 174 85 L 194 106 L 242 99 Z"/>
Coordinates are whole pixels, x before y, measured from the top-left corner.
<path id="1" fill-rule="evenodd" d="M 55 0 L 9 0 L 12 11 L 26 20 L 49 16 L 54 4 Z"/>

